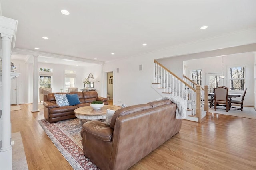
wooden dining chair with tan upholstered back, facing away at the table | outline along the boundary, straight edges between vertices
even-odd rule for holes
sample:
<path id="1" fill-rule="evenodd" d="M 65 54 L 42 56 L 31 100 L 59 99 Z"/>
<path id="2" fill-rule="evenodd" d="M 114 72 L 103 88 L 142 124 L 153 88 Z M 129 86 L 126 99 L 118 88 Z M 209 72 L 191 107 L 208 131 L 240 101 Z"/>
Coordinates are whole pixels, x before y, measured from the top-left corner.
<path id="1" fill-rule="evenodd" d="M 214 110 L 218 106 L 225 106 L 226 112 L 230 109 L 230 99 L 228 99 L 228 88 L 217 87 L 214 88 Z"/>

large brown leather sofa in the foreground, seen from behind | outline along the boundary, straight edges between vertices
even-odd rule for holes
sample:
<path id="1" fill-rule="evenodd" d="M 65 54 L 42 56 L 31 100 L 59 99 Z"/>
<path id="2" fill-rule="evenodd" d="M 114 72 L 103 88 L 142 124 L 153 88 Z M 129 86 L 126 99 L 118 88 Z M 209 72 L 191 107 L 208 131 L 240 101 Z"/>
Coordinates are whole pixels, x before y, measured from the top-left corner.
<path id="1" fill-rule="evenodd" d="M 154 101 L 118 109 L 110 125 L 82 125 L 84 155 L 101 170 L 126 170 L 180 131 L 176 104 Z"/>

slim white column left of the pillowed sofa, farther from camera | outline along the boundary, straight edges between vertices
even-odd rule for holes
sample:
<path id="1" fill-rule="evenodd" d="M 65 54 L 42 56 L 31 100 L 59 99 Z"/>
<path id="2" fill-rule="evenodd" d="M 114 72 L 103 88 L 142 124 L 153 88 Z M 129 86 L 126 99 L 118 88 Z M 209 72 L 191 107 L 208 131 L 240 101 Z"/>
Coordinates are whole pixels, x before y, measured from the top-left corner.
<path id="1" fill-rule="evenodd" d="M 37 58 L 38 55 L 33 55 L 34 65 L 33 65 L 33 112 L 38 112 L 38 70 L 37 70 Z"/>

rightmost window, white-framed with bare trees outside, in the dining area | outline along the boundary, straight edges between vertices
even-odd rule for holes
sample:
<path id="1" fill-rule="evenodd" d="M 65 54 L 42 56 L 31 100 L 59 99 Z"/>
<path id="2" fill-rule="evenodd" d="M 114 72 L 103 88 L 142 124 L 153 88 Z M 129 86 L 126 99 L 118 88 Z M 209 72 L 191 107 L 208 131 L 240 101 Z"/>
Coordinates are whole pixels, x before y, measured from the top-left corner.
<path id="1" fill-rule="evenodd" d="M 229 68 L 230 90 L 244 90 L 245 84 L 245 66 Z"/>

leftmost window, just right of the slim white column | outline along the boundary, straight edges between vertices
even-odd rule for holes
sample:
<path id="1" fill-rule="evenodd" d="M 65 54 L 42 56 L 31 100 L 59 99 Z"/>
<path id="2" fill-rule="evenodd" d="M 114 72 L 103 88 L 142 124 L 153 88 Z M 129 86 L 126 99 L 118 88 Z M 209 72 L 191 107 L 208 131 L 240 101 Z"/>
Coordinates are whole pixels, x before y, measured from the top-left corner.
<path id="1" fill-rule="evenodd" d="M 39 68 L 39 87 L 52 88 L 52 69 Z"/>

